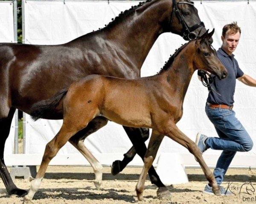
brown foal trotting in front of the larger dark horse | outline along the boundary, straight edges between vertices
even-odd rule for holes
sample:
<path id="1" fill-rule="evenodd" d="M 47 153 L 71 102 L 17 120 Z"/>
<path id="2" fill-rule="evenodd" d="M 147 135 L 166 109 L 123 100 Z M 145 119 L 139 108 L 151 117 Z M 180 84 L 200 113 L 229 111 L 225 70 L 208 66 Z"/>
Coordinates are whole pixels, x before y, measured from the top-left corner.
<path id="1" fill-rule="evenodd" d="M 44 113 L 54 111 L 61 105 L 63 125 L 46 145 L 38 174 L 24 198 L 25 203 L 33 198 L 40 187 L 47 166 L 58 150 L 97 116 L 104 116 L 127 127 L 152 128 L 144 167 L 136 187 L 140 201 L 143 200 L 146 175 L 165 135 L 186 147 L 198 159 L 207 180 L 212 184 L 213 192 L 220 194 L 201 151 L 176 126 L 182 117 L 183 100 L 196 69 L 209 71 L 219 79 L 227 77 L 226 68 L 209 43 L 213 32 L 208 34 L 207 31 L 197 40 L 179 48 L 155 76 L 121 79 L 90 75 L 60 91 L 51 101 L 48 99 L 35 104 L 31 112 L 34 119 L 41 118 Z"/>

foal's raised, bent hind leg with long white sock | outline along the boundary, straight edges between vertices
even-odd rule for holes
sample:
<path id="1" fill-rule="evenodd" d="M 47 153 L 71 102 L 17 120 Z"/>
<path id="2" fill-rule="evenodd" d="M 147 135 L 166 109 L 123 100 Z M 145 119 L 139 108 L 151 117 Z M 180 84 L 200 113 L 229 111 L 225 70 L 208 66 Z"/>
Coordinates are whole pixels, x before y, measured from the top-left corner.
<path id="1" fill-rule="evenodd" d="M 83 130 L 80 130 L 69 140 L 69 142 L 73 144 L 76 149 L 79 150 L 79 152 L 87 159 L 87 161 L 89 161 L 89 163 L 93 167 L 93 172 L 95 173 L 94 185 L 98 189 L 102 183 L 103 167 L 99 163 L 99 161 L 92 155 L 92 153 L 90 153 L 90 151 L 85 147 L 84 139 L 90 134 L 99 130 L 101 127 L 107 125 L 107 123 L 108 119 L 101 116 L 96 117 L 88 123 L 87 127 L 85 127 Z"/>

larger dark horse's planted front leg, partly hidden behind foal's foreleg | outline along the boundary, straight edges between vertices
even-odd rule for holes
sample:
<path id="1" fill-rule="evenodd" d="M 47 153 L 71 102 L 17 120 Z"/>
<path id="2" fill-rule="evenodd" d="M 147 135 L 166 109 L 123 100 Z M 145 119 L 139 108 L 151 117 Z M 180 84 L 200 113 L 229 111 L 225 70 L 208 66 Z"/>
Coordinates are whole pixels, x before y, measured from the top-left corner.
<path id="1" fill-rule="evenodd" d="M 133 134 L 128 134 L 129 139 L 131 140 L 132 144 L 134 145 L 134 148 L 135 148 L 137 154 L 144 161 L 144 156 L 146 154 L 147 147 L 144 143 L 143 138 L 140 135 L 141 130 L 139 128 L 133 128 L 133 127 L 124 127 L 124 129 L 126 132 L 129 132 L 129 133 L 133 132 Z M 154 135 L 153 132 L 152 132 L 152 135 Z M 170 193 L 169 190 L 166 188 L 166 186 L 160 180 L 154 167 L 150 166 L 149 170 L 147 172 L 148 172 L 148 176 L 151 180 L 151 183 L 157 185 L 157 187 L 158 187 L 157 195 L 158 196 L 169 195 L 169 193 Z"/>

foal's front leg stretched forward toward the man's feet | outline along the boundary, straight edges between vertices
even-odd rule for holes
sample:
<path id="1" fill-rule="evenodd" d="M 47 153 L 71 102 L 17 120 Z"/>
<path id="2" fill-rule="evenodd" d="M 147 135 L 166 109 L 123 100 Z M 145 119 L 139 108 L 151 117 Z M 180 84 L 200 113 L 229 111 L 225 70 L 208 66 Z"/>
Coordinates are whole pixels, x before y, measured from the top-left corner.
<path id="1" fill-rule="evenodd" d="M 195 144 L 195 142 L 193 142 L 184 133 L 182 133 L 175 124 L 172 124 L 172 125 L 169 125 L 166 127 L 169 127 L 169 130 L 164 131 L 165 132 L 164 134 L 166 136 L 168 136 L 169 138 L 173 139 L 175 142 L 186 147 L 189 150 L 189 152 L 192 153 L 196 157 L 202 170 L 204 171 L 204 175 L 206 176 L 209 183 L 212 185 L 213 193 L 215 195 L 220 195 L 220 190 L 219 190 L 218 184 L 215 181 L 215 178 L 214 178 L 212 172 L 209 170 L 209 167 L 205 163 L 203 156 L 201 154 L 201 151 L 199 150 L 199 148 Z M 166 129 L 166 128 L 163 128 L 163 129 Z"/>

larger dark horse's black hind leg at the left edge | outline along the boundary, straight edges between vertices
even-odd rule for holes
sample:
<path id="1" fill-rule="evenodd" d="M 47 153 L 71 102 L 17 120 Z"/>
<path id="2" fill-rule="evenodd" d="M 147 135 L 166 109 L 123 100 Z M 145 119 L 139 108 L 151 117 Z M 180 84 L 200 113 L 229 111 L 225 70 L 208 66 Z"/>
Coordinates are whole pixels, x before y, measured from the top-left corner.
<path id="1" fill-rule="evenodd" d="M 3 152 L 4 152 L 4 146 L 7 137 L 10 133 L 10 127 L 12 123 L 12 117 L 15 113 L 15 108 L 11 108 L 9 110 L 9 114 L 6 118 L 3 118 L 4 116 L 0 113 L 0 131 L 1 131 L 1 142 L 0 142 L 0 176 L 3 180 L 3 183 L 6 187 L 6 190 L 9 194 L 15 194 L 15 195 L 23 195 L 26 193 L 26 190 L 22 190 L 16 187 L 16 185 L 13 183 L 12 178 L 6 168 L 4 159 L 3 159 Z"/>

